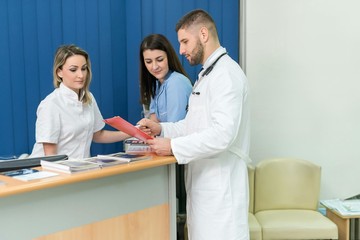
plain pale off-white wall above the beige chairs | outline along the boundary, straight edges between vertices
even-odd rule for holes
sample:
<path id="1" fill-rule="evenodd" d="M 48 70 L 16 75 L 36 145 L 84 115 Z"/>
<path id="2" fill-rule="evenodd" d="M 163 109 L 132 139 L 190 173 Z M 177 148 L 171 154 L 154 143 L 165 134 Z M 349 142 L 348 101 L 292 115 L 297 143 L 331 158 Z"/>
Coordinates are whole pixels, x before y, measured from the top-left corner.
<path id="1" fill-rule="evenodd" d="M 307 159 L 322 199 L 360 193 L 360 1 L 242 3 L 254 163 Z"/>

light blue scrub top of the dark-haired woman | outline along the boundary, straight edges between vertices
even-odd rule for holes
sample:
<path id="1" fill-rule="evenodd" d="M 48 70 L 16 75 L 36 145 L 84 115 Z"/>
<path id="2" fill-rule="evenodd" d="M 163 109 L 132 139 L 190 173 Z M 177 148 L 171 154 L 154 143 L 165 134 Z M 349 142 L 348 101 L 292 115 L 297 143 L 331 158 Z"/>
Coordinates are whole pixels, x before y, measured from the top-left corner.
<path id="1" fill-rule="evenodd" d="M 185 118 L 190 80 L 178 72 L 169 72 L 163 84 L 157 81 L 156 94 L 150 102 L 150 114 L 155 113 L 160 122 L 177 122 Z"/>

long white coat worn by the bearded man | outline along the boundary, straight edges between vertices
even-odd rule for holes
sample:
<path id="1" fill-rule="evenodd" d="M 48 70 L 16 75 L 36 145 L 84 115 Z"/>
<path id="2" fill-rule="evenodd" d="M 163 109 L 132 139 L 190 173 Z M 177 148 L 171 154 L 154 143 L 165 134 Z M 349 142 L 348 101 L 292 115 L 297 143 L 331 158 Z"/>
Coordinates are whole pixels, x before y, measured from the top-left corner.
<path id="1" fill-rule="evenodd" d="M 205 62 L 209 67 L 225 48 Z M 204 77 L 199 74 L 184 120 L 162 123 L 179 164 L 187 164 L 187 224 L 190 240 L 245 240 L 248 227 L 250 126 L 248 82 L 224 55 Z"/>

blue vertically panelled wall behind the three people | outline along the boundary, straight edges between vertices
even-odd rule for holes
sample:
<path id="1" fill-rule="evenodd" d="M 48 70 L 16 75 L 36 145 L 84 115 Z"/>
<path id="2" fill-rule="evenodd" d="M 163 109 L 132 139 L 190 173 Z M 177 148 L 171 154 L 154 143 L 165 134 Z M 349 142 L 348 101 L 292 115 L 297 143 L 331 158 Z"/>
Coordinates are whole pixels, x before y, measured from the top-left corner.
<path id="1" fill-rule="evenodd" d="M 0 157 L 31 152 L 36 109 L 53 91 L 53 57 L 61 44 L 77 44 L 90 54 L 91 91 L 103 117 L 136 123 L 142 116 L 141 40 L 161 33 L 178 52 L 175 24 L 196 8 L 214 17 L 222 45 L 238 59 L 237 0 L 0 0 Z M 194 80 L 200 66 L 179 57 Z M 121 143 L 92 146 L 93 155 L 120 150 Z"/>

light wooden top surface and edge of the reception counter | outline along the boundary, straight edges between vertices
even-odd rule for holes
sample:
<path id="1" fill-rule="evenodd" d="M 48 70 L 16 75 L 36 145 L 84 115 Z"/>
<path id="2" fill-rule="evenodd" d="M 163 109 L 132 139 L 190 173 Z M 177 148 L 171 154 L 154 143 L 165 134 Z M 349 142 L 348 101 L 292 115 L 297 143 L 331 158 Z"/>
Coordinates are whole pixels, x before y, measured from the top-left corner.
<path id="1" fill-rule="evenodd" d="M 0 175 L 0 181 L 5 182 L 4 185 L 0 185 L 0 197 L 41 190 L 45 188 L 57 187 L 65 184 L 88 181 L 97 178 L 104 178 L 128 172 L 141 171 L 143 169 L 168 165 L 172 163 L 176 163 L 176 159 L 173 156 L 161 157 L 153 155 L 151 159 L 106 167 L 100 170 L 91 170 L 73 174 L 57 172 L 59 173 L 58 176 L 43 178 L 39 180 L 31 180 L 28 182 Z M 42 170 L 41 167 L 37 167 L 36 169 Z"/>

